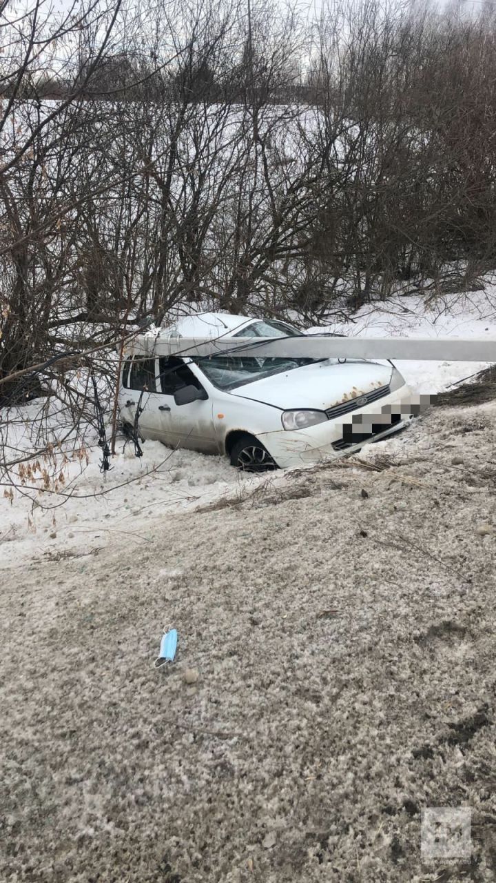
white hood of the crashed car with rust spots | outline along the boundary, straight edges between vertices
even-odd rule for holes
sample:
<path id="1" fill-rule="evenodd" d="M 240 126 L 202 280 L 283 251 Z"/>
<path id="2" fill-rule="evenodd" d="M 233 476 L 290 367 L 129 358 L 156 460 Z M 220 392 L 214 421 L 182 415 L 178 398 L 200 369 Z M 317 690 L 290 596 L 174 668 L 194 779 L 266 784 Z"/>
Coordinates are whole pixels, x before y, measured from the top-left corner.
<path id="1" fill-rule="evenodd" d="M 231 395 L 272 404 L 282 410 L 313 408 L 327 411 L 334 404 L 387 386 L 390 380 L 390 366 L 362 361 L 339 364 L 336 359 L 326 359 L 245 383 L 233 389 Z"/>

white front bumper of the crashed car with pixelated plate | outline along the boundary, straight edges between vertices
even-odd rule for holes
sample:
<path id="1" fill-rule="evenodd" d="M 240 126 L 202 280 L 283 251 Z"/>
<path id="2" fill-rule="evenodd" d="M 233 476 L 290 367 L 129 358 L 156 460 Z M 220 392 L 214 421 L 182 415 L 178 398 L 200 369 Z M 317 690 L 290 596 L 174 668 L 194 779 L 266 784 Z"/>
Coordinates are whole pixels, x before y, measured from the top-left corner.
<path id="1" fill-rule="evenodd" d="M 418 408 L 415 410 L 412 406 L 413 398 L 405 384 L 389 396 L 351 411 L 345 417 L 325 420 L 308 429 L 294 432 L 281 429 L 257 436 L 281 469 L 337 459 L 408 426 L 413 414 L 418 413 Z"/>

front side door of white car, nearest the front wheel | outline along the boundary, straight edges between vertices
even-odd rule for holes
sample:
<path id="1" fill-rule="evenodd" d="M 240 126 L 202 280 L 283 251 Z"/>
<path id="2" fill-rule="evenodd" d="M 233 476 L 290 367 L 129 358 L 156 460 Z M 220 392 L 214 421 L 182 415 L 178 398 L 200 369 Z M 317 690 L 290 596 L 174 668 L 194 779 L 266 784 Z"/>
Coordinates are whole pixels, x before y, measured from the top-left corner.
<path id="1" fill-rule="evenodd" d="M 174 393 L 185 386 L 205 389 L 192 369 L 177 356 L 159 359 L 159 381 L 163 412 L 163 441 L 174 448 L 189 448 L 207 454 L 218 454 L 219 443 L 214 430 L 213 400 L 210 395 L 204 400 L 190 404 L 176 404 Z M 207 390 L 206 390 L 207 391 Z"/>

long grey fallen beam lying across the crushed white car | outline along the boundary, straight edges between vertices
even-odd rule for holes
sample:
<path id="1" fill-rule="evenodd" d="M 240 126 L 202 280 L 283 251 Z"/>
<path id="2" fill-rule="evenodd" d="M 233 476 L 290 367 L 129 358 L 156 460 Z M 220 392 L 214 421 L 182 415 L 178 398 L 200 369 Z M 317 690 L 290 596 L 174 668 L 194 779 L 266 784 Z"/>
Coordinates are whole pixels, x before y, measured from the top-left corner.
<path id="1" fill-rule="evenodd" d="M 139 336 L 135 354 L 294 358 L 395 358 L 425 361 L 496 362 L 496 340 L 456 337 L 162 337 Z"/>

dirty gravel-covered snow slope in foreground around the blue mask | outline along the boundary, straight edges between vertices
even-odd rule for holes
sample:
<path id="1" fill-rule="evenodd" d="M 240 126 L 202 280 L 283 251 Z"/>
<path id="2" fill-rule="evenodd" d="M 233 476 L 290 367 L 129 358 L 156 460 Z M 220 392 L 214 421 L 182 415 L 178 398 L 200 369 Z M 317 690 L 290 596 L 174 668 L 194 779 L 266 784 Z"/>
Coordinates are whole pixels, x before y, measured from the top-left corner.
<path id="1" fill-rule="evenodd" d="M 0 880 L 494 879 L 495 443 L 494 404 L 432 411 L 381 471 L 4 570 Z M 421 862 L 444 805 L 469 866 Z"/>

